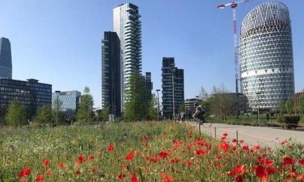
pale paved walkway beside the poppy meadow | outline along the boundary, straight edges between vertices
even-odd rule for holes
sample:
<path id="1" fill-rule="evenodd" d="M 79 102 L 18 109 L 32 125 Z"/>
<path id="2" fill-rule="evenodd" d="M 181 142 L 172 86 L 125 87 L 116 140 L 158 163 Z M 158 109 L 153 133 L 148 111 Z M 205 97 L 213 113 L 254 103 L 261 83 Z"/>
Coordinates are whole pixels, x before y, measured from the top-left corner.
<path id="1" fill-rule="evenodd" d="M 189 122 L 189 124 L 196 125 L 196 122 Z M 196 125 L 199 127 L 198 124 Z M 256 127 L 256 126 L 242 126 L 242 125 L 230 125 L 230 124 L 219 124 L 213 123 L 211 127 L 208 127 L 209 123 L 201 125 L 201 132 L 209 136 L 214 137 L 216 127 L 216 137 L 220 138 L 224 133 L 227 133 L 227 139 L 232 140 L 237 138 L 237 131 L 239 140 L 243 139 L 244 143 L 248 145 L 267 145 L 275 148 L 281 145 L 281 141 L 292 138 L 294 141 L 301 142 L 304 144 L 304 132 L 303 128 L 297 130 L 285 130 L 278 127 Z"/>

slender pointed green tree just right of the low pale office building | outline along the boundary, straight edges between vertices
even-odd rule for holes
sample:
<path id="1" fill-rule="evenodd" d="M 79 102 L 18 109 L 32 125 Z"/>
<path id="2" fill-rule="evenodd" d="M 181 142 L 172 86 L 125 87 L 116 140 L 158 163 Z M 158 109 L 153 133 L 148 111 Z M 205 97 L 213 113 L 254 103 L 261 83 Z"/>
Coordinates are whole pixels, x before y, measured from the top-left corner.
<path id="1" fill-rule="evenodd" d="M 90 94 L 90 88 L 85 87 L 83 95 L 80 97 L 79 109 L 76 117 L 77 121 L 89 122 L 93 120 L 93 97 Z"/>

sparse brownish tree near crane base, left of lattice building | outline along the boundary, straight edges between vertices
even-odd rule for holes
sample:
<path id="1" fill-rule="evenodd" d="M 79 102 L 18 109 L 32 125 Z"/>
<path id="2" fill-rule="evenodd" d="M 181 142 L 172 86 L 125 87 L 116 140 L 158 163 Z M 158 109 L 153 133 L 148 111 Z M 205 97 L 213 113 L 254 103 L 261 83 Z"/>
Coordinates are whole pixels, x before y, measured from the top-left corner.
<path id="1" fill-rule="evenodd" d="M 213 87 L 213 91 L 210 97 L 210 110 L 211 113 L 221 116 L 223 121 L 226 121 L 226 115 L 228 110 L 235 105 L 233 97 L 228 94 L 224 84 L 219 87 Z"/>

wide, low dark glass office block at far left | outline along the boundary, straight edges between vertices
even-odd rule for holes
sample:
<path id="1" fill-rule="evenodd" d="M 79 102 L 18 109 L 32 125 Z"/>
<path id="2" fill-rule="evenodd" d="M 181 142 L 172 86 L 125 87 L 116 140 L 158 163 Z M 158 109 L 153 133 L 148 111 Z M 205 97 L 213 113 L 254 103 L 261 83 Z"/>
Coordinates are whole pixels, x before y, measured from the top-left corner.
<path id="1" fill-rule="evenodd" d="M 39 80 L 27 81 L 0 78 L 0 114 L 5 116 L 9 104 L 18 99 L 27 110 L 27 118 L 32 119 L 37 109 L 52 104 L 52 85 L 39 83 Z"/>

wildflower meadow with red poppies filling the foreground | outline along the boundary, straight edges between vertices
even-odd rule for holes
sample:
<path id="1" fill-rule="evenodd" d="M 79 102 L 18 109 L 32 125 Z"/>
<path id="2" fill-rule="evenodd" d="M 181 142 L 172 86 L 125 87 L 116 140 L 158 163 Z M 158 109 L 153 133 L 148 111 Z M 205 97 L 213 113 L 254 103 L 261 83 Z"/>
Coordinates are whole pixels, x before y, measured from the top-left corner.
<path id="1" fill-rule="evenodd" d="M 303 145 L 272 151 L 172 122 L 0 128 L 0 182 L 303 181 Z"/>

